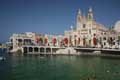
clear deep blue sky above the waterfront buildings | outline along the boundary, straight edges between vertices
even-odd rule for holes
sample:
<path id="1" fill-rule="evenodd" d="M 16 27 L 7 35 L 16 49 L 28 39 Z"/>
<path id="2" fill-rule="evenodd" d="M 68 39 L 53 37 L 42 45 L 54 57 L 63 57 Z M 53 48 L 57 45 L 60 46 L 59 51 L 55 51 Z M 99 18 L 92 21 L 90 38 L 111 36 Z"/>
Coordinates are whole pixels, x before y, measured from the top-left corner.
<path id="1" fill-rule="evenodd" d="M 107 27 L 120 20 L 120 0 L 0 0 L 0 42 L 13 33 L 64 34 L 76 27 L 77 10 L 87 16 L 89 7 Z"/>

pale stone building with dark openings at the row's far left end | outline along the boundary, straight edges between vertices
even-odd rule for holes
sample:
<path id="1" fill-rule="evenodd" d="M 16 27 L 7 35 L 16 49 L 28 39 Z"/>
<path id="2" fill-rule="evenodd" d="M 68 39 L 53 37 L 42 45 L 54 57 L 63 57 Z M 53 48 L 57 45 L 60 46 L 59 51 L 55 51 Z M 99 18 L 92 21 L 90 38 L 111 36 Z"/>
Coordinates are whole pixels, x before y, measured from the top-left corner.
<path id="1" fill-rule="evenodd" d="M 35 33 L 26 32 L 22 34 L 13 34 L 10 37 L 10 49 L 16 51 L 24 45 L 35 45 Z"/>

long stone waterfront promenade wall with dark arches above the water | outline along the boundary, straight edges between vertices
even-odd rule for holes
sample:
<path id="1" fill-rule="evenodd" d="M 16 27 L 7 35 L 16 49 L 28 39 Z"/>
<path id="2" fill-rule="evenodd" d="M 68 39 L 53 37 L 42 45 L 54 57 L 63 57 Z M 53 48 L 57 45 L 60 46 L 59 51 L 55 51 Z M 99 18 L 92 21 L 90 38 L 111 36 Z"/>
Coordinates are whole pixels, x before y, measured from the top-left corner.
<path id="1" fill-rule="evenodd" d="M 24 54 L 47 54 L 47 55 L 80 55 L 81 52 L 89 54 L 112 54 L 120 55 L 120 49 L 85 48 L 85 47 L 56 47 L 56 46 L 24 46 Z"/>

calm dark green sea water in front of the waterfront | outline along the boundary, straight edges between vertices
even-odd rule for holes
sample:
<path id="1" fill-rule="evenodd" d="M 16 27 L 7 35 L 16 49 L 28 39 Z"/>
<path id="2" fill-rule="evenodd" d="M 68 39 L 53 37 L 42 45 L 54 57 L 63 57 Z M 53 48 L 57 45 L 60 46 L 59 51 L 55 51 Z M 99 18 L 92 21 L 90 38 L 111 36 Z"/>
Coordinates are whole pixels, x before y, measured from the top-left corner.
<path id="1" fill-rule="evenodd" d="M 120 80 L 120 59 L 96 56 L 8 56 L 0 80 Z"/>

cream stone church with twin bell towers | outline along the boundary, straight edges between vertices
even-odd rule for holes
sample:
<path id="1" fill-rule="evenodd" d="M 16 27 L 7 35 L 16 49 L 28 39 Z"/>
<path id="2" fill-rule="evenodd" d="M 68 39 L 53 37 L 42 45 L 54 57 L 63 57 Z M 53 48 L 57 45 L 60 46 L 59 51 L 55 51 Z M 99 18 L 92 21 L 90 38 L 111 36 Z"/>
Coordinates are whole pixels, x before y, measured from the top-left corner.
<path id="1" fill-rule="evenodd" d="M 64 32 L 64 36 L 69 40 L 69 46 L 98 47 L 106 42 L 109 28 L 98 23 L 94 19 L 93 10 L 88 9 L 87 16 L 84 16 L 79 9 L 76 16 L 76 28 L 71 26 L 70 30 Z M 106 45 L 106 44 L 105 44 Z"/>

